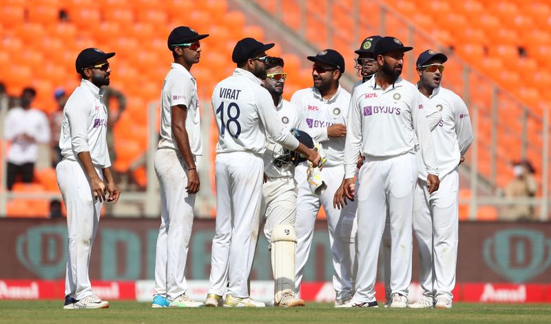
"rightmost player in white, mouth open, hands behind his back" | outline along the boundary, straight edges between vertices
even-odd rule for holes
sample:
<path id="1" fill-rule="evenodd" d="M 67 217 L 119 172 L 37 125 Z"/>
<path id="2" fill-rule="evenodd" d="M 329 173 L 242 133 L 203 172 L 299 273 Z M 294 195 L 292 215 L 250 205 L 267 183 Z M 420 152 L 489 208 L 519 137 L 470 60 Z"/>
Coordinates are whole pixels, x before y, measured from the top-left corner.
<path id="1" fill-rule="evenodd" d="M 426 50 L 417 59 L 419 91 L 440 110 L 432 132 L 438 152 L 440 188 L 429 194 L 426 170 L 419 168 L 413 203 L 413 232 L 419 243 L 419 283 L 423 298 L 412 308 L 451 308 L 457 263 L 459 164 L 472 142 L 469 112 L 454 92 L 442 88 L 445 54 Z M 420 167 L 421 165 L 419 165 Z"/>

